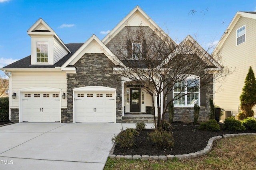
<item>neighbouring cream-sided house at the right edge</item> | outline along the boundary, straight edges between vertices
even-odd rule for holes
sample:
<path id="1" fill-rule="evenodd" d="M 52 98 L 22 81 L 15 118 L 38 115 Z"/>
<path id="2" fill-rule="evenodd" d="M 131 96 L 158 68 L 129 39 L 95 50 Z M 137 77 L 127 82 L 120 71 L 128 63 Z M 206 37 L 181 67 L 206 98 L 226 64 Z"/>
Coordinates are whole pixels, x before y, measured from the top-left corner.
<path id="1" fill-rule="evenodd" d="M 256 71 L 255 27 L 256 12 L 237 12 L 213 52 L 222 56 L 222 64 L 232 72 L 224 81 L 215 83 L 214 102 L 232 113 L 239 113 L 249 67 Z"/>

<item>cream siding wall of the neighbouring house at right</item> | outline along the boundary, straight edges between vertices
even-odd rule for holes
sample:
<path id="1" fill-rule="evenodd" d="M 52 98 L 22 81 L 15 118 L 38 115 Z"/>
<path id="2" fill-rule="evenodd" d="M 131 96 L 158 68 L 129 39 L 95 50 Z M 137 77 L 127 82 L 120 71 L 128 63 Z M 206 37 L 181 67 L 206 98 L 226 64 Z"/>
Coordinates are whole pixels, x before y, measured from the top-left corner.
<path id="1" fill-rule="evenodd" d="M 243 25 L 246 25 L 246 42 L 236 45 L 236 30 Z M 256 73 L 255 27 L 256 20 L 241 17 L 230 32 L 221 50 L 223 66 L 228 66 L 234 72 L 223 82 L 215 84 L 217 92 L 214 102 L 225 110 L 232 110 L 233 113 L 238 112 L 239 97 L 242 93 L 249 66 L 252 66 L 254 73 Z M 256 111 L 254 110 L 254 112 Z"/>

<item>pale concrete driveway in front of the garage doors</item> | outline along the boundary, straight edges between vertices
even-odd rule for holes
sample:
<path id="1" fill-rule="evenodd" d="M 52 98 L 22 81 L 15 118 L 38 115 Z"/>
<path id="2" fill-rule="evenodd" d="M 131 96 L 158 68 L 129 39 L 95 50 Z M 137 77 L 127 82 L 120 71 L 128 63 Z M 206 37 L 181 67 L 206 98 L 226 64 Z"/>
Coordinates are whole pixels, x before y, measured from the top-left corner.
<path id="1" fill-rule="evenodd" d="M 0 169 L 101 170 L 112 148 L 111 138 L 121 129 L 121 123 L 3 126 L 0 127 Z"/>

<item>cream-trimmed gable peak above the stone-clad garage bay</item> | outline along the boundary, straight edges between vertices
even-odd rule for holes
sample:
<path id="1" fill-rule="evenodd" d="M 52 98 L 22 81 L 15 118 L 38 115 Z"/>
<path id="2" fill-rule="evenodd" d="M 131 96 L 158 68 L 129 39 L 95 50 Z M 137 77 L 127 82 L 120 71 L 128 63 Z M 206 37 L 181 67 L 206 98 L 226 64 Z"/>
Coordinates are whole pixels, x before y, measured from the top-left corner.
<path id="1" fill-rule="evenodd" d="M 104 53 L 116 66 L 124 64 L 96 37 L 92 35 L 83 45 L 62 65 L 62 68 L 74 65 L 85 53 Z"/>

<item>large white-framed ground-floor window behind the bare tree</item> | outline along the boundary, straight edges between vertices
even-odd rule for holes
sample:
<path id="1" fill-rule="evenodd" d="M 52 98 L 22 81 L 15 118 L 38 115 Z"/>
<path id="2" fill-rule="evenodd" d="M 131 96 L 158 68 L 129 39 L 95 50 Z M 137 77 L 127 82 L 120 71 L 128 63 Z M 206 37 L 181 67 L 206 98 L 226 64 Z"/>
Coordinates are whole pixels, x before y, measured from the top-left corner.
<path id="1" fill-rule="evenodd" d="M 174 84 L 174 106 L 194 106 L 194 104 L 199 104 L 199 87 L 200 82 L 198 79 L 186 79 Z"/>

